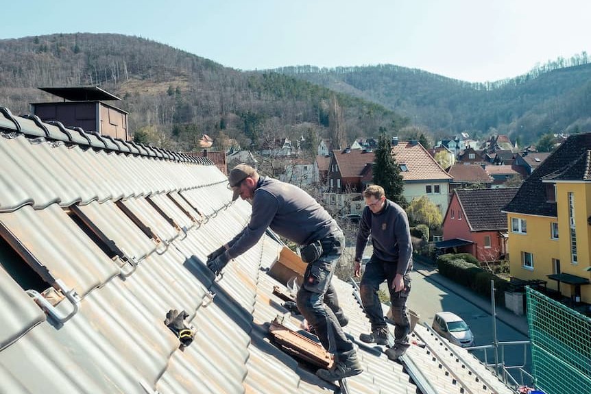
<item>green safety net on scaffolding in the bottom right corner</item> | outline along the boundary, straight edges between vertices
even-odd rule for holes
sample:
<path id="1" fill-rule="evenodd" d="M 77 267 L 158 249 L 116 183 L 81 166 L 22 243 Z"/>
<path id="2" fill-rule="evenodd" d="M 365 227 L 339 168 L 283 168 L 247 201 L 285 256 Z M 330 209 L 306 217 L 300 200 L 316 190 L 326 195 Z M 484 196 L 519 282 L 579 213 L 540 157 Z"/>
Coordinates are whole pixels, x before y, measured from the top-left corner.
<path id="1" fill-rule="evenodd" d="M 527 322 L 536 387 L 591 393 L 591 319 L 529 287 Z"/>

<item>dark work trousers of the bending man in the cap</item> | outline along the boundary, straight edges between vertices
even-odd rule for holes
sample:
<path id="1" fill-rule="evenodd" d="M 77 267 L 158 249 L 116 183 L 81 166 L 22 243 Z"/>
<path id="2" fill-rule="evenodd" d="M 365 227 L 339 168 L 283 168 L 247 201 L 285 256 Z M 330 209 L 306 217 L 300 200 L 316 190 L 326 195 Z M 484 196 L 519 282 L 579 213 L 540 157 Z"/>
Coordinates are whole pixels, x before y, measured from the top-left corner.
<path id="1" fill-rule="evenodd" d="M 324 349 L 346 359 L 354 354 L 353 344 L 345 336 L 339 319 L 343 310 L 333 284 L 330 282 L 345 247 L 342 232 L 321 240 L 323 253 L 306 267 L 304 282 L 298 291 L 298 309 L 315 328 Z"/>

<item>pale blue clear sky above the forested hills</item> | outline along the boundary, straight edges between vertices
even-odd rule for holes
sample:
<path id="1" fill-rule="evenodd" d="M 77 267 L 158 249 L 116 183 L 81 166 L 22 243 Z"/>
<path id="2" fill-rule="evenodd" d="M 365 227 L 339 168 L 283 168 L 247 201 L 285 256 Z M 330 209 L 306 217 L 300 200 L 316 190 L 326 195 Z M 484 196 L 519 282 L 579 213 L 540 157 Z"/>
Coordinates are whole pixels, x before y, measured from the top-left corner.
<path id="1" fill-rule="evenodd" d="M 397 64 L 485 82 L 591 52 L 591 1 L 10 1 L 0 38 L 120 33 L 235 69 Z"/>

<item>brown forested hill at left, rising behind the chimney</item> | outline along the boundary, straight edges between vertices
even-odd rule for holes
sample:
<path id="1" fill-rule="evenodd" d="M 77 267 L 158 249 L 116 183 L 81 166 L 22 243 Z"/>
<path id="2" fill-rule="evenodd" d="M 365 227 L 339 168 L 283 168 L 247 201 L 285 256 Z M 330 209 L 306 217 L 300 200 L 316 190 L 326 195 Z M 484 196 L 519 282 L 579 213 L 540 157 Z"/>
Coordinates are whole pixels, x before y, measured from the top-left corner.
<path id="1" fill-rule="evenodd" d="M 229 69 L 158 42 L 117 34 L 53 34 L 0 40 L 0 106 L 59 101 L 40 86 L 101 86 L 123 101 L 130 131 L 169 149 L 197 149 L 202 134 L 227 148 L 329 134 L 350 143 L 407 120 L 365 101 L 279 73 Z"/>

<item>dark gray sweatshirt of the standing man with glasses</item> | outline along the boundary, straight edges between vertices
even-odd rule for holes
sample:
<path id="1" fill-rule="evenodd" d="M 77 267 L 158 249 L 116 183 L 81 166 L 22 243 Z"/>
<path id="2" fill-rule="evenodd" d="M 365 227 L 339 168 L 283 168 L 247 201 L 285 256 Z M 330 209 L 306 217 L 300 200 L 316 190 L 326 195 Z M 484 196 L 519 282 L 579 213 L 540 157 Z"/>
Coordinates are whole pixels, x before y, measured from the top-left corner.
<path id="1" fill-rule="evenodd" d="M 412 269 L 413 244 L 407 212 L 389 199 L 384 208 L 374 214 L 365 207 L 359 222 L 355 260 L 361 260 L 367 237 L 372 235 L 374 256 L 397 264 L 396 273 L 404 275 Z"/>

